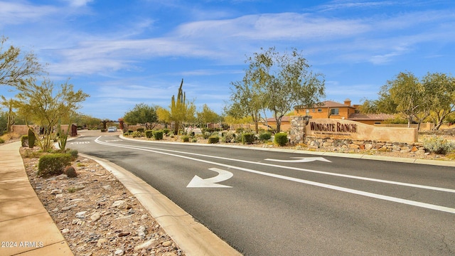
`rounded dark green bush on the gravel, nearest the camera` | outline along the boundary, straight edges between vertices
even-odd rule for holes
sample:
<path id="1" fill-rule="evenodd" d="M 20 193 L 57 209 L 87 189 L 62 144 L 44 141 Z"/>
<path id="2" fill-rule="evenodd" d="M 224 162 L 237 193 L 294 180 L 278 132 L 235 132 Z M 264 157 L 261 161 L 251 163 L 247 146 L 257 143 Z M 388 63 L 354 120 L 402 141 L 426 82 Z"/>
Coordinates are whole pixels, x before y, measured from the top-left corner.
<path id="1" fill-rule="evenodd" d="M 63 174 L 70 162 L 70 154 L 45 154 L 38 161 L 38 176 L 46 178 Z"/>

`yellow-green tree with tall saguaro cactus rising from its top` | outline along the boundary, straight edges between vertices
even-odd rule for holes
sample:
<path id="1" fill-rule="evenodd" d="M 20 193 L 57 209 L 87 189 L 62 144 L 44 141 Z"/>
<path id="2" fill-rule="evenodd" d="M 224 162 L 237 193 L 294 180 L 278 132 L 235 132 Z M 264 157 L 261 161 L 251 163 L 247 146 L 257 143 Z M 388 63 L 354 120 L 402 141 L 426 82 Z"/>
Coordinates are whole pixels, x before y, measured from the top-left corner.
<path id="1" fill-rule="evenodd" d="M 174 134 L 178 134 L 178 129 L 185 129 L 186 124 L 196 122 L 196 106 L 193 102 L 186 100 L 186 94 L 182 90 L 183 79 L 178 87 L 177 99 L 172 95 L 170 111 L 159 107 L 156 110 L 159 120 L 170 123 L 174 122 Z"/>

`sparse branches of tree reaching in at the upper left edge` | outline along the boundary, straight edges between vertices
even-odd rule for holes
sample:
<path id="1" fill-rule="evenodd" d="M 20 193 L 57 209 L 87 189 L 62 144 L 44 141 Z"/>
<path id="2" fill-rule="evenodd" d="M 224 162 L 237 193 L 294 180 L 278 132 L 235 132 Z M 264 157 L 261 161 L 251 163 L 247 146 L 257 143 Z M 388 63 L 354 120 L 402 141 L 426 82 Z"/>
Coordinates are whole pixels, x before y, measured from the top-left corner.
<path id="1" fill-rule="evenodd" d="M 5 49 L 7 40 L 4 36 L 0 38 L 0 85 L 20 85 L 27 78 L 43 73 L 36 55 L 21 55 L 21 49 L 14 46 Z"/>

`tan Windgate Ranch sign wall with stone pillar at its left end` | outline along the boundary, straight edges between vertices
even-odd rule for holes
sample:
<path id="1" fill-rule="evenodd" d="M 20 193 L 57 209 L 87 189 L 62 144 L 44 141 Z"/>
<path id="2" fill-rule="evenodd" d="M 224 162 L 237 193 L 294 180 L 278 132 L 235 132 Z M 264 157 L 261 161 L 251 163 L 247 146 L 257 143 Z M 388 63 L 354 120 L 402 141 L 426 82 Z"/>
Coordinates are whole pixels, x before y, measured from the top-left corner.
<path id="1" fill-rule="evenodd" d="M 304 137 L 351 139 L 355 141 L 406 142 L 418 141 L 415 128 L 375 127 L 345 119 L 309 119 L 291 117 L 291 143 L 304 143 Z"/>

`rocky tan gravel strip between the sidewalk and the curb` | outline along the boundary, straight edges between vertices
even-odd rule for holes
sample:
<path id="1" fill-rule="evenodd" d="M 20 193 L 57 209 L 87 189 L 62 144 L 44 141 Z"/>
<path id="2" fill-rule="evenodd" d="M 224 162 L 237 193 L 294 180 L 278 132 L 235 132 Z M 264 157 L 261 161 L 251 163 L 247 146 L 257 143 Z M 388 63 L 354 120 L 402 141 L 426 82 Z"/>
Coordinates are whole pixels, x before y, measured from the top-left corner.
<path id="1" fill-rule="evenodd" d="M 76 178 L 38 178 L 38 149 L 21 148 L 31 185 L 75 255 L 185 255 L 109 171 L 79 156 Z"/>

